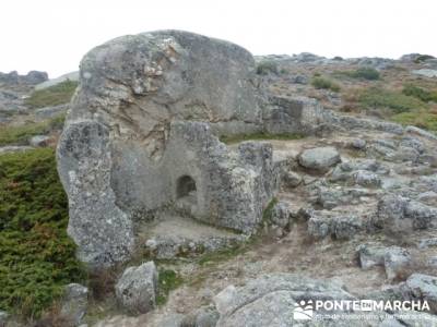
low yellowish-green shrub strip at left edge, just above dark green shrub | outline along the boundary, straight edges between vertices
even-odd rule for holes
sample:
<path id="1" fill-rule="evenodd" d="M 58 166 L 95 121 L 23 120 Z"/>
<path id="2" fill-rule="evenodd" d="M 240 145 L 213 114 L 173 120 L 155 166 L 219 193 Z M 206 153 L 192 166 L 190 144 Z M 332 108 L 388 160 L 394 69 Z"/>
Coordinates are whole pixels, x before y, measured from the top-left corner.
<path id="1" fill-rule="evenodd" d="M 2 126 L 0 129 L 0 146 L 8 144 L 26 145 L 32 136 L 48 134 L 54 130 L 62 130 L 64 119 L 64 114 L 59 114 L 44 122 L 21 126 Z"/>

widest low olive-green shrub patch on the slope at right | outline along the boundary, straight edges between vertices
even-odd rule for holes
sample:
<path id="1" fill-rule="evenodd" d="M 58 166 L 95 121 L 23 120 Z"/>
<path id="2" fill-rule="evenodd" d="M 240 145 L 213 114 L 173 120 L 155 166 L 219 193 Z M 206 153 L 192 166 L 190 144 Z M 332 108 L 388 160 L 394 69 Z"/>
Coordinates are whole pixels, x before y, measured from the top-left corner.
<path id="1" fill-rule="evenodd" d="M 420 109 L 426 106 L 423 101 L 412 96 L 375 87 L 362 93 L 358 97 L 358 102 L 365 109 L 388 108 L 394 113 Z"/>

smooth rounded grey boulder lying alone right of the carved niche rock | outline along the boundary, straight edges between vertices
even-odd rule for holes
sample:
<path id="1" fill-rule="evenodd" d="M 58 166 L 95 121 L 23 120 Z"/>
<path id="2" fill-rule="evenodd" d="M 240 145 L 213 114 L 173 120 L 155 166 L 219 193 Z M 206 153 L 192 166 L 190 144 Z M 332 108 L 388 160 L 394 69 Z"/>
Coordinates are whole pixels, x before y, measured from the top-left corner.
<path id="1" fill-rule="evenodd" d="M 318 171 L 327 171 L 341 161 L 339 152 L 331 146 L 304 150 L 298 157 L 300 166 Z"/>

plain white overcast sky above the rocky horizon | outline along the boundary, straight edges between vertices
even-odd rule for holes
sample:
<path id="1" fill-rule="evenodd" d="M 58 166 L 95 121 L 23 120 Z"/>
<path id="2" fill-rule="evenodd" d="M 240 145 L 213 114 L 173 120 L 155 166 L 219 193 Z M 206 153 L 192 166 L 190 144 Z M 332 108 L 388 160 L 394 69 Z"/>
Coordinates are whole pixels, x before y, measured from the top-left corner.
<path id="1" fill-rule="evenodd" d="M 437 57 L 436 0 L 1 0 L 0 72 L 76 71 L 111 38 L 184 29 L 253 55 Z"/>

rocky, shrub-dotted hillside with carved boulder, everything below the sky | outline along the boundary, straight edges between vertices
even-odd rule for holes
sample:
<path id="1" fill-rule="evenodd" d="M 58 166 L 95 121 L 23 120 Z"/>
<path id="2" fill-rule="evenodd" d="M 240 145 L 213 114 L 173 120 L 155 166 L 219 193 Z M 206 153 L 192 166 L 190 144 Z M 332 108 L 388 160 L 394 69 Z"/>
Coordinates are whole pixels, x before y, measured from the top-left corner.
<path id="1" fill-rule="evenodd" d="M 144 46 L 161 70 L 0 75 L 0 326 L 312 326 L 292 315 L 308 299 L 426 300 L 368 326 L 436 324 L 437 59 L 253 59 L 172 33 Z"/>

